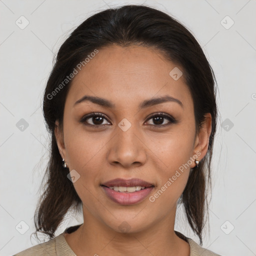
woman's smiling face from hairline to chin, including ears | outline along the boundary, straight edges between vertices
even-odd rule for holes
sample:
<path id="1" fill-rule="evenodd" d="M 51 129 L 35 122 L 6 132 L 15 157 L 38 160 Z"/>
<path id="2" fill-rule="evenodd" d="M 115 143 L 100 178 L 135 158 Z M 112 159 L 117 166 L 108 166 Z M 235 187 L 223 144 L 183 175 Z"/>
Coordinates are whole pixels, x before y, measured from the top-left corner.
<path id="1" fill-rule="evenodd" d="M 152 48 L 110 46 L 74 76 L 63 133 L 55 132 L 84 219 L 124 232 L 174 221 L 210 133 L 195 134 L 193 101 L 180 71 Z"/>

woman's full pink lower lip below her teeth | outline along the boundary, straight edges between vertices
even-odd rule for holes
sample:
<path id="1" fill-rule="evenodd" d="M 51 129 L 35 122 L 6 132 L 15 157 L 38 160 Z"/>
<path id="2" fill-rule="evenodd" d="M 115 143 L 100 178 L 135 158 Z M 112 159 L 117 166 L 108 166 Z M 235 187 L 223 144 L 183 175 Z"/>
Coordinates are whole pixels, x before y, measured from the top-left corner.
<path id="1" fill-rule="evenodd" d="M 150 186 L 135 192 L 119 192 L 119 191 L 114 191 L 113 189 L 108 188 L 106 186 L 101 186 L 101 187 L 104 189 L 106 195 L 112 201 L 121 205 L 131 205 L 131 204 L 139 203 L 142 200 L 144 200 L 153 189 L 153 186 Z"/>

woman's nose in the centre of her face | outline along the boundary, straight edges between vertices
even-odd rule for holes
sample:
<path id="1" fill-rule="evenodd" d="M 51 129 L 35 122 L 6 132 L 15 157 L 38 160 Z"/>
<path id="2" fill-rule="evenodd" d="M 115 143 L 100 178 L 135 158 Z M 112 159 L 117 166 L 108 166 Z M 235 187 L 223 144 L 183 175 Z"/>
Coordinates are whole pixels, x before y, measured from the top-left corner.
<path id="1" fill-rule="evenodd" d="M 109 142 L 107 160 L 111 165 L 132 168 L 146 162 L 146 145 L 135 125 L 131 125 L 126 131 L 117 126 L 115 134 Z"/>

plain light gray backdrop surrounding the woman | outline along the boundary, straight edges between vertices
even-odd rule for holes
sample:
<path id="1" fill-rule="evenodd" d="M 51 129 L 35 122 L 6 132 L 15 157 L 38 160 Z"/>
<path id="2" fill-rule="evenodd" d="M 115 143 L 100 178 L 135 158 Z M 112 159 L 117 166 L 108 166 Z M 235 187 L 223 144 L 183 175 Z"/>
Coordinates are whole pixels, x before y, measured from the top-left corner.
<path id="1" fill-rule="evenodd" d="M 53 55 L 86 17 L 125 3 L 173 15 L 203 47 L 217 78 L 221 113 L 203 247 L 256 255 L 255 0 L 0 0 L 0 255 L 37 244 L 30 234 L 49 142 L 41 102 Z M 57 234 L 81 222 L 68 214 Z M 180 210 L 176 229 L 198 242 Z"/>

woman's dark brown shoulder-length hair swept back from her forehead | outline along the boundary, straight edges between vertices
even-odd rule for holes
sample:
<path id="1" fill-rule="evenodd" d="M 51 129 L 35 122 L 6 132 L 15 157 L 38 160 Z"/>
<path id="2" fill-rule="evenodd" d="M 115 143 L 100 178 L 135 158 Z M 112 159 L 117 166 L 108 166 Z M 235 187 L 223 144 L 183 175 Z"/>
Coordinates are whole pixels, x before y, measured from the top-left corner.
<path id="1" fill-rule="evenodd" d="M 207 191 L 211 187 L 210 163 L 217 119 L 215 77 L 200 45 L 188 29 L 170 15 L 145 5 L 124 5 L 90 16 L 71 32 L 57 53 L 43 98 L 43 114 L 51 136 L 51 148 L 45 172 L 47 180 L 34 214 L 36 232 L 53 238 L 67 211 L 70 208 L 78 209 L 82 203 L 73 183 L 67 178 L 69 170 L 62 167 L 54 135 L 55 120 L 59 120 L 62 128 L 65 99 L 72 80 L 61 86 L 54 97 L 52 91 L 56 91 L 76 65 L 95 49 L 131 44 L 157 49 L 182 67 L 193 99 L 197 132 L 204 121 L 204 114 L 211 114 L 207 153 L 196 170 L 190 172 L 178 201 L 183 203 L 187 220 L 202 244 L 205 214 L 208 214 Z"/>

